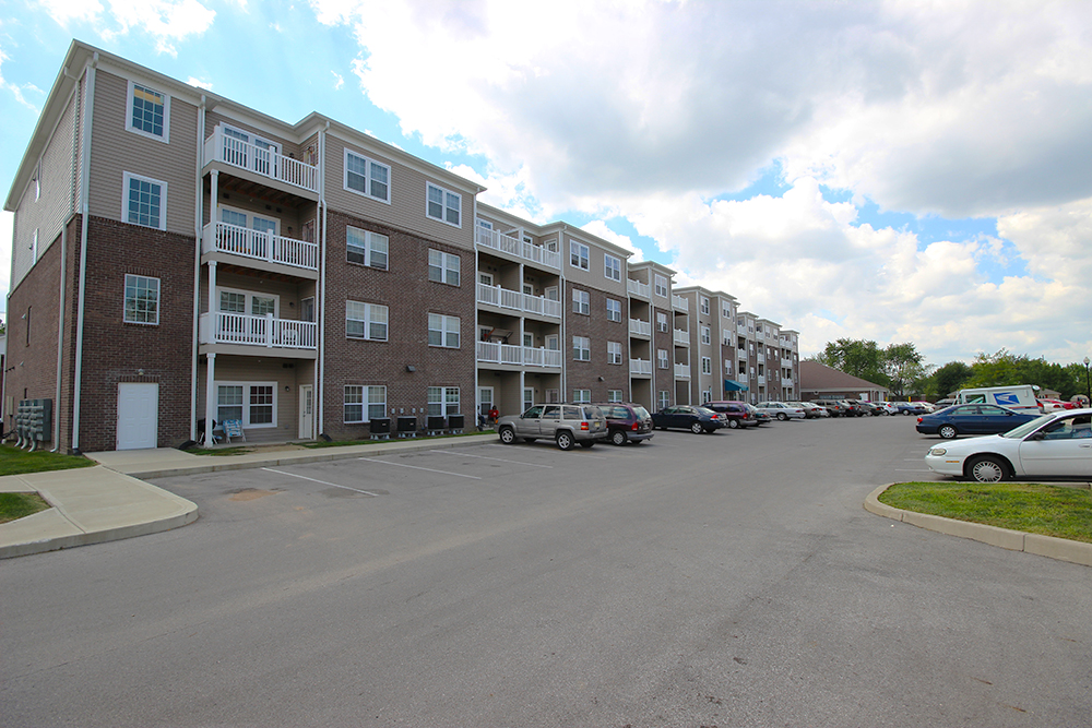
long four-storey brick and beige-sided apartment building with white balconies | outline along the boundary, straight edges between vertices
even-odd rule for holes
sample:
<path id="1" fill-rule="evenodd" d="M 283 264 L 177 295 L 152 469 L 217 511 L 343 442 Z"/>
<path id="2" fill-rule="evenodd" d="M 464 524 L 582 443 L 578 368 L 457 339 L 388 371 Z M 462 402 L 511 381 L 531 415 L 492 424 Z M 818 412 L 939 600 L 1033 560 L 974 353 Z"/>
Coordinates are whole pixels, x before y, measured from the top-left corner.
<path id="1" fill-rule="evenodd" d="M 722 396 L 703 357 L 732 369 L 731 326 L 705 332 L 674 271 L 482 191 L 73 43 L 5 202 L 4 411 L 52 399 L 54 446 L 94 451 L 211 444 L 212 421 L 358 439 L 379 417 Z M 795 377 L 795 338 L 776 342 Z"/>

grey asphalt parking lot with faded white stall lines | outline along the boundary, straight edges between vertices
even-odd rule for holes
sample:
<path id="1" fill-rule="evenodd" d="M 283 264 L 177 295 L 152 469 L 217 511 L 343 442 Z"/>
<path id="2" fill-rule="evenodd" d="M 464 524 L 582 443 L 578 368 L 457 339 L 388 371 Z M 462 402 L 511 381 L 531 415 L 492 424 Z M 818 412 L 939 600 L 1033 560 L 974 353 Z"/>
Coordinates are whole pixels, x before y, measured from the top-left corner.
<path id="1" fill-rule="evenodd" d="M 909 417 L 173 477 L 0 564 L 5 725 L 1092 724 L 1083 566 L 865 512 Z"/>

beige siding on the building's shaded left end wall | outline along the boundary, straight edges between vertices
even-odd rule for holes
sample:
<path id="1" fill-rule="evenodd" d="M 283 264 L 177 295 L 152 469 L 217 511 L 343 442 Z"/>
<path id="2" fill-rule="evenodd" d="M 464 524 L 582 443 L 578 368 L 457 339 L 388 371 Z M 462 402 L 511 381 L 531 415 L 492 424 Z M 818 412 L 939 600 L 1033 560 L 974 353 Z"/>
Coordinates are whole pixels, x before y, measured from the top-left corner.
<path id="1" fill-rule="evenodd" d="M 80 144 L 76 135 L 76 108 L 79 92 L 73 94 L 58 120 L 57 128 L 41 155 L 38 172 L 41 193 L 35 200 L 35 181 L 26 186 L 15 212 L 15 232 L 12 241 L 12 281 L 14 287 L 34 265 L 31 247 L 34 231 L 38 231 L 37 256 L 60 239 L 64 222 L 75 211 L 73 198 L 75 170 Z"/>

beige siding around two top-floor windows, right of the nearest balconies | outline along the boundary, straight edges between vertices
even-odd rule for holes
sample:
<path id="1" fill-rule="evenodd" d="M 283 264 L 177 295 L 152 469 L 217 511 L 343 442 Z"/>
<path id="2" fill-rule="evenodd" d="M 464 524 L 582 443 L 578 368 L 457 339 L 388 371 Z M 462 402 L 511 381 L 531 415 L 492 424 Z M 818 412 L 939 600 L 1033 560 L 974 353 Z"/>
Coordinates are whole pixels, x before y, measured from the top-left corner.
<path id="1" fill-rule="evenodd" d="M 390 175 L 390 204 L 345 189 L 345 148 L 372 162 L 387 165 Z M 461 196 L 460 227 L 426 216 L 427 182 Z M 467 250 L 474 249 L 474 195 L 439 177 L 429 177 L 378 154 L 367 146 L 347 143 L 327 134 L 325 196 L 331 210 L 401 228 L 425 238 Z"/>

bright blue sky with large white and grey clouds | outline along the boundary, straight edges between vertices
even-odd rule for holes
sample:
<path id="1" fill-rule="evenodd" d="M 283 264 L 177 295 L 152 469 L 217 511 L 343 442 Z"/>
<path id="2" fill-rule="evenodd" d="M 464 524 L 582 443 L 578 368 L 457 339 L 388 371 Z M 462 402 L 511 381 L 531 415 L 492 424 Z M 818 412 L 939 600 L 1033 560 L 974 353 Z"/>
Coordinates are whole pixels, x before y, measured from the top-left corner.
<path id="1" fill-rule="evenodd" d="M 1092 355 L 1092 2 L 0 2 L 4 196 L 73 37 L 367 130 L 805 356 Z"/>

